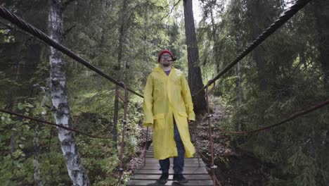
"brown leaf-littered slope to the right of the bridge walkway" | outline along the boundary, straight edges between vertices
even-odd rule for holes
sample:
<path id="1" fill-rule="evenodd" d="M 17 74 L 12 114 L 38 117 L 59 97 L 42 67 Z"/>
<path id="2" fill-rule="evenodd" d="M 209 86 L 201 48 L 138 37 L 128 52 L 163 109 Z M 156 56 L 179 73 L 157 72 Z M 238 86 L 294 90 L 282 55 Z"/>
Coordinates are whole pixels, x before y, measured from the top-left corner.
<path id="1" fill-rule="evenodd" d="M 224 106 L 217 102 L 217 99 L 209 99 L 209 109 L 212 117 L 212 136 L 214 142 L 214 165 L 217 166 L 215 174 L 222 186 L 243 186 L 266 185 L 269 173 L 269 165 L 262 162 L 253 154 L 237 147 L 237 143 L 231 135 L 227 135 L 219 130 L 222 120 L 228 117 Z M 217 125 L 213 125 L 217 123 Z M 206 117 L 195 123 L 195 132 L 193 126 L 190 126 L 192 139 L 197 134 L 196 144 L 200 150 L 200 157 L 207 166 L 210 173 L 211 151 L 209 145 L 209 127 Z"/>

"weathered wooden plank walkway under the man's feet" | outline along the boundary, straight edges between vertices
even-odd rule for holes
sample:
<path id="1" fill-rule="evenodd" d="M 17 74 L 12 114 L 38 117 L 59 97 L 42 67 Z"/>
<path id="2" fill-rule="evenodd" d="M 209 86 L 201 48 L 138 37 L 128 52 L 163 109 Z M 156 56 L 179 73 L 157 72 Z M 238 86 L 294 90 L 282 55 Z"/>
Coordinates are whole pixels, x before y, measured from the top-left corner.
<path id="1" fill-rule="evenodd" d="M 198 157 L 195 155 L 191 159 L 185 159 L 185 166 L 183 175 L 188 179 L 187 183 L 181 184 L 172 180 L 173 159 L 170 159 L 169 179 L 164 185 L 195 185 L 195 186 L 212 186 L 212 178 L 205 168 L 205 163 L 200 159 L 200 167 L 198 163 Z M 131 176 L 127 185 L 163 185 L 157 182 L 160 178 L 161 171 L 159 171 L 159 161 L 153 158 L 153 145 L 146 152 L 146 166 L 144 162 L 142 165 L 134 171 L 134 175 Z"/>

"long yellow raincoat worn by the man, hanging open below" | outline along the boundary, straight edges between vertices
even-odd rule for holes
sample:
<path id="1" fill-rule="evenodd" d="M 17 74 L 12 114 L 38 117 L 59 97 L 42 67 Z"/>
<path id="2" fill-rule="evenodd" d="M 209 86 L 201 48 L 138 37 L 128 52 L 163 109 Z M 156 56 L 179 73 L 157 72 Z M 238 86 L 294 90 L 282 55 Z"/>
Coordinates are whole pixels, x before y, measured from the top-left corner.
<path id="1" fill-rule="evenodd" d="M 174 118 L 184 144 L 184 156 L 193 157 L 195 149 L 188 132 L 188 120 L 195 120 L 195 114 L 188 82 L 180 70 L 172 68 L 167 76 L 157 67 L 150 73 L 144 89 L 143 111 L 143 125 L 153 127 L 155 159 L 177 156 Z"/>

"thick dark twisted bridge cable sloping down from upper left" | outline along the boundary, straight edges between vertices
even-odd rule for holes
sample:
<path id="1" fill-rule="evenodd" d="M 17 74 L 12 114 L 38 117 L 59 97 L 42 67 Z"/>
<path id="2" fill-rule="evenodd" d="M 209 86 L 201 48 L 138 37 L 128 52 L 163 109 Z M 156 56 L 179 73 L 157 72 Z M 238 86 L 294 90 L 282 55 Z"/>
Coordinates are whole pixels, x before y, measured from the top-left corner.
<path id="1" fill-rule="evenodd" d="M 89 61 L 86 61 L 84 58 L 82 58 L 80 56 L 77 56 L 77 54 L 73 53 L 66 46 L 63 46 L 62 44 L 59 44 L 55 40 L 51 39 L 51 37 L 49 37 L 48 35 L 46 35 L 44 32 L 42 32 L 41 30 L 37 29 L 36 27 L 34 27 L 33 25 L 31 25 L 30 23 L 27 23 L 22 18 L 19 18 L 14 13 L 12 13 L 11 11 L 9 11 L 7 8 L 4 8 L 4 6 L 0 6 L 0 16 L 2 18 L 4 18 L 4 19 L 10 21 L 11 23 L 17 25 L 22 30 L 25 30 L 25 32 L 30 33 L 34 37 L 37 37 L 38 39 L 40 39 L 41 41 L 45 42 L 46 44 L 49 44 L 50 46 L 53 46 L 53 48 L 58 49 L 58 51 L 63 52 L 63 54 L 66 54 L 67 56 L 69 56 L 70 58 L 74 59 L 78 63 L 81 63 L 86 68 L 89 68 L 90 70 L 93 70 L 95 73 L 98 73 L 99 75 L 105 77 L 106 79 L 108 79 L 111 82 L 113 82 L 115 85 L 118 85 L 118 86 L 124 88 L 123 85 L 122 85 L 122 83 L 118 82 L 113 77 L 110 77 L 109 75 L 103 73 L 102 70 L 100 70 L 99 68 L 96 68 L 96 66 L 91 65 L 91 63 Z M 136 94 L 138 97 L 143 97 L 141 94 L 138 94 L 133 89 L 127 88 L 127 90 L 129 90 L 129 92 L 131 92 L 133 94 Z"/>

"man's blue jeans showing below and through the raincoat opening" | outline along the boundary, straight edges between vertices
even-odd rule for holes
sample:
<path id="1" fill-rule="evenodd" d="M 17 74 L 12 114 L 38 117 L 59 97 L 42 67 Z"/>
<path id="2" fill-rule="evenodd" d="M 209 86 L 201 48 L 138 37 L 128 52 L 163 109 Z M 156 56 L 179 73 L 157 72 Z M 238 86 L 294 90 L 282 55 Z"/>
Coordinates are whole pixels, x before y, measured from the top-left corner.
<path id="1" fill-rule="evenodd" d="M 185 149 L 184 149 L 183 142 L 181 142 L 181 136 L 179 135 L 179 130 L 177 129 L 175 119 L 174 119 L 174 140 L 176 142 L 178 156 L 174 157 L 174 168 L 173 169 L 174 169 L 175 174 L 181 174 L 181 173 L 183 173 L 183 168 L 184 168 Z M 169 158 L 160 159 L 159 163 L 160 163 L 160 171 L 162 171 L 162 173 L 168 173 L 169 166 L 170 166 Z"/>

